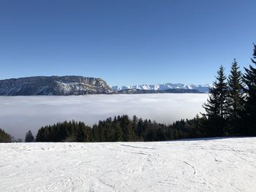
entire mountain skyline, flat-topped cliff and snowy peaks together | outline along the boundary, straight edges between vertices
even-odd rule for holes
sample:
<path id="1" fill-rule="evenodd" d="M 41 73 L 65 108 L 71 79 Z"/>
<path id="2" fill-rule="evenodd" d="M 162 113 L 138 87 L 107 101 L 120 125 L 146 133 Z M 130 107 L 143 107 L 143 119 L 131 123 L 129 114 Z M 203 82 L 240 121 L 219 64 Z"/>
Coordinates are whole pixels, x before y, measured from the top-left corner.
<path id="1" fill-rule="evenodd" d="M 82 76 L 37 76 L 0 80 L 1 96 L 70 96 L 109 93 L 208 93 L 211 85 L 165 83 L 155 85 L 113 86 L 101 78 Z"/>

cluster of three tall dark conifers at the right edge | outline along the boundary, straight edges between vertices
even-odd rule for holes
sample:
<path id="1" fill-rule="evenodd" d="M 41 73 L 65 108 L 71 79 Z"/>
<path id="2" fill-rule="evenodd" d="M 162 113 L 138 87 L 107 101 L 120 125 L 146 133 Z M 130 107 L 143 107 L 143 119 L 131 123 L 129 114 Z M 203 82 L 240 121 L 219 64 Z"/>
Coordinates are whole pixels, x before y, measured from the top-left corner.
<path id="1" fill-rule="evenodd" d="M 256 64 L 254 45 L 252 64 Z M 208 137 L 255 136 L 256 135 L 256 69 L 252 65 L 239 70 L 234 59 L 228 77 L 223 66 L 217 72 L 202 115 L 206 118 L 204 128 Z"/>

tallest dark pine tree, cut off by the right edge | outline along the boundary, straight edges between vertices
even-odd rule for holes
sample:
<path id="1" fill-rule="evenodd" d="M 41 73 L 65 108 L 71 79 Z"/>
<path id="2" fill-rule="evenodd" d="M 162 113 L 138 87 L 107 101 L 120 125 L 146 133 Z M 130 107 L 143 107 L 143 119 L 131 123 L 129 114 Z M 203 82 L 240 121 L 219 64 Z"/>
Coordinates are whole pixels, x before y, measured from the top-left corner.
<path id="1" fill-rule="evenodd" d="M 256 45 L 254 45 L 254 53 L 252 63 L 256 65 Z M 244 127 L 246 131 L 244 134 L 255 135 L 256 134 L 256 68 L 252 65 L 249 69 L 244 68 L 246 73 L 244 74 L 244 83 L 246 88 L 246 103 L 244 110 Z"/>

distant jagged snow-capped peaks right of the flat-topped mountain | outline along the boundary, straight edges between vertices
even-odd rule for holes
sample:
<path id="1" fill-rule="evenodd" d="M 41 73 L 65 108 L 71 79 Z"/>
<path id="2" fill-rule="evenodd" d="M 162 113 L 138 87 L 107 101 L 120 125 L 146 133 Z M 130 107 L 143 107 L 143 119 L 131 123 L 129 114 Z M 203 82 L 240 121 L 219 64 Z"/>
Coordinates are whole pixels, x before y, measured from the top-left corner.
<path id="1" fill-rule="evenodd" d="M 185 89 L 185 90 L 197 90 L 203 93 L 208 93 L 211 85 L 194 85 L 194 84 L 182 84 L 182 83 L 165 83 L 154 85 L 132 85 L 132 86 L 113 86 L 113 91 L 124 91 L 127 89 L 138 89 L 148 91 L 165 91 L 167 89 Z"/>

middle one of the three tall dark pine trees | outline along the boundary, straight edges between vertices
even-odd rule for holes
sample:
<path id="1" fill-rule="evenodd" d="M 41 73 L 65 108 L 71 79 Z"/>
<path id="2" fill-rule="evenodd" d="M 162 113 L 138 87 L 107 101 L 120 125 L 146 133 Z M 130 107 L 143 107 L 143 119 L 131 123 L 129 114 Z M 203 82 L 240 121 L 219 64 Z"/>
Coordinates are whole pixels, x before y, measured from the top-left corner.
<path id="1" fill-rule="evenodd" d="M 241 112 L 244 108 L 244 83 L 236 59 L 234 59 L 232 63 L 227 82 L 229 86 L 227 94 L 229 126 L 226 131 L 227 134 L 234 135 L 241 133 L 239 130 L 241 129 L 239 122 L 241 119 Z"/>

